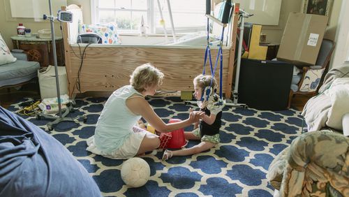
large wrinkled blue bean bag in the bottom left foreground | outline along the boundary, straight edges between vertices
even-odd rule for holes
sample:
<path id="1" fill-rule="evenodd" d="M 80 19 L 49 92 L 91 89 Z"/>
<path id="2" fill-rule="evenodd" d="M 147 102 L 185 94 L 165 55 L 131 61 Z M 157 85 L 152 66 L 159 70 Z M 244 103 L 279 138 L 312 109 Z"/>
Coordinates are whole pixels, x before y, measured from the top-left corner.
<path id="1" fill-rule="evenodd" d="M 81 163 L 45 131 L 0 107 L 0 196 L 101 196 Z"/>

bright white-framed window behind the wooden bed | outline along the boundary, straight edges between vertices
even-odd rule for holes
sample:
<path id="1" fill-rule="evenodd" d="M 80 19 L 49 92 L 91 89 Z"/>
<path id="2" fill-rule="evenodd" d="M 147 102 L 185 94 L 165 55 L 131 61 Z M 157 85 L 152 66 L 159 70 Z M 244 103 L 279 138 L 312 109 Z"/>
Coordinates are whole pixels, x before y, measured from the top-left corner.
<path id="1" fill-rule="evenodd" d="M 205 31 L 205 0 L 169 0 L 174 29 L 177 32 Z M 161 12 L 158 8 L 160 3 Z M 143 17 L 148 32 L 171 32 L 168 0 L 91 0 L 91 17 L 94 24 L 117 23 L 119 32 L 138 33 Z"/>

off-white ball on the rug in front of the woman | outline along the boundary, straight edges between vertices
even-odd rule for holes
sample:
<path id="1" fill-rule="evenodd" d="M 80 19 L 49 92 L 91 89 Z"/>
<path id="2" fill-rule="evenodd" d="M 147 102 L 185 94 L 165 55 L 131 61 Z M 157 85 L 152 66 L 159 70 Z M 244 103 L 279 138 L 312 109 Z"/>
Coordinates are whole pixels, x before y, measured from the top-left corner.
<path id="1" fill-rule="evenodd" d="M 121 179 L 129 187 L 142 187 L 149 177 L 149 164 L 139 157 L 128 159 L 121 166 Z"/>

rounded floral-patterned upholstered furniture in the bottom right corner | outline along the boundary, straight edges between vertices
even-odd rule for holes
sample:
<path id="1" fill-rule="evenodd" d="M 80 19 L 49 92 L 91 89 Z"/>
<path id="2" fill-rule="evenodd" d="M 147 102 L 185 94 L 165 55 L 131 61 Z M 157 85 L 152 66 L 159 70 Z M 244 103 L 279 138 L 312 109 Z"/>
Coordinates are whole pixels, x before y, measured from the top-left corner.
<path id="1" fill-rule="evenodd" d="M 349 196 L 349 138 L 329 131 L 304 133 L 269 166 L 274 196 Z"/>

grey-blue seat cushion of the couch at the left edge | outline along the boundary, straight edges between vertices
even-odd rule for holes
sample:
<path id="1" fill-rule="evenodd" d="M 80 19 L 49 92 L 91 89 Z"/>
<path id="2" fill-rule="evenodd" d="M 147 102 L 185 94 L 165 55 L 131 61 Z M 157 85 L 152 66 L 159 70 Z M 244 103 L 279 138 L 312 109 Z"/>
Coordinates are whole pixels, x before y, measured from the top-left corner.
<path id="1" fill-rule="evenodd" d="M 17 60 L 0 66 L 0 87 L 27 82 L 37 76 L 40 64 L 36 61 Z"/>

